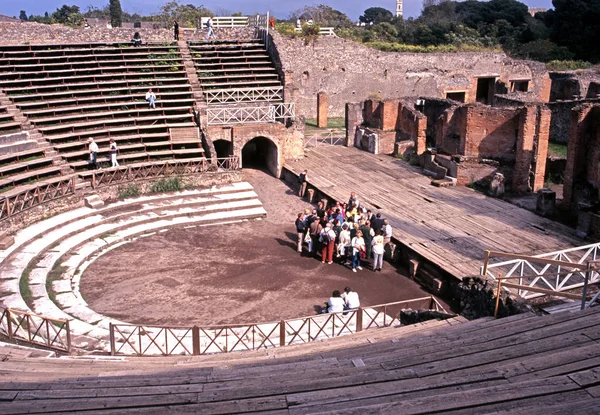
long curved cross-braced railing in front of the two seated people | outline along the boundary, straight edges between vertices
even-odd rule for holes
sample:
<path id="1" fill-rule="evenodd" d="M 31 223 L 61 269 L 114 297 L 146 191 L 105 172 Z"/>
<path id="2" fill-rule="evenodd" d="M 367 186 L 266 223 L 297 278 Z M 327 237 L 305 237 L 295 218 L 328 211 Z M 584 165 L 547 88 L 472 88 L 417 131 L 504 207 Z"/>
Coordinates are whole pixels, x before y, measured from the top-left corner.
<path id="1" fill-rule="evenodd" d="M 261 324 L 210 327 L 110 325 L 111 355 L 203 355 L 310 343 L 400 324 L 406 308 L 444 311 L 434 297 Z"/>

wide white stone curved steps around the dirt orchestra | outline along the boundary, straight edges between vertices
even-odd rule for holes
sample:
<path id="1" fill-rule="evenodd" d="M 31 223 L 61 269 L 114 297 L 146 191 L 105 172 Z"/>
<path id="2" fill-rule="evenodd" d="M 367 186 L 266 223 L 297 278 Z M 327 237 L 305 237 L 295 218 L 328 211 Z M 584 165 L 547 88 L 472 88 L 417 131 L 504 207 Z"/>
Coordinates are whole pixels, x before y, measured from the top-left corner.
<path id="1" fill-rule="evenodd" d="M 161 229 L 231 223 L 265 215 L 247 183 L 125 200 L 97 210 L 76 209 L 23 229 L 15 235 L 15 244 L 0 253 L 0 303 L 6 308 L 69 320 L 76 348 L 106 352 L 108 325 L 117 321 L 89 309 L 78 288 L 90 261 Z M 27 287 L 25 292 L 23 286 Z"/>

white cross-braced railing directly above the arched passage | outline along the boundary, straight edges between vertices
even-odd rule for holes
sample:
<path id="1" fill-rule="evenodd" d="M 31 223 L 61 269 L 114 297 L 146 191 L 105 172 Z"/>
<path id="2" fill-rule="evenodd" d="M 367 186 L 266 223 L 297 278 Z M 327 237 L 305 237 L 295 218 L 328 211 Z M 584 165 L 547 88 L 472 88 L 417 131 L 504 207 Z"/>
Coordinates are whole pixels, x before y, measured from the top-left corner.
<path id="1" fill-rule="evenodd" d="M 208 107 L 208 125 L 276 123 L 294 119 L 294 104 L 272 104 L 244 107 Z"/>

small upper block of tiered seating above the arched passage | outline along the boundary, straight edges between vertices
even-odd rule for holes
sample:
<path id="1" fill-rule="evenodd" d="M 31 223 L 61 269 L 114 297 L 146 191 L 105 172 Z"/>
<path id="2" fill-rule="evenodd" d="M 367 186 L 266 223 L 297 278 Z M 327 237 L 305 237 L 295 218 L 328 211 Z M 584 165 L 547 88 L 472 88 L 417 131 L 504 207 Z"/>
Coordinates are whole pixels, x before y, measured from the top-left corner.
<path id="1" fill-rule="evenodd" d="M 260 40 L 190 42 L 189 48 L 205 94 L 225 94 L 216 102 L 209 100 L 209 104 L 282 100 L 281 80 Z M 252 90 L 263 92 L 249 94 Z M 271 91 L 268 98 L 265 90 Z M 242 93 L 241 98 L 232 98 L 236 91 Z"/>

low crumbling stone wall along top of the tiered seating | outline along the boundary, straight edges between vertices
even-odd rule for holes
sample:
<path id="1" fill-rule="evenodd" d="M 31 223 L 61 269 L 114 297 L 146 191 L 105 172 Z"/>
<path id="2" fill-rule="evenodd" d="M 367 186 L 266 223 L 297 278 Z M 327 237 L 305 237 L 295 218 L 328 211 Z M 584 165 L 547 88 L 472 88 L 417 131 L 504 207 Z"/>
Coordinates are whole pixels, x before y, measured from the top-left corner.
<path id="1" fill-rule="evenodd" d="M 91 29 L 84 30 L 59 24 L 0 22 L 0 45 L 129 42 L 135 32 L 140 32 L 143 42 L 173 41 L 173 31 L 170 29 L 107 29 L 106 27 L 92 26 Z M 180 38 L 186 40 L 204 40 L 205 36 L 205 32 L 196 32 L 195 30 L 182 29 L 180 33 Z M 217 36 L 222 39 L 252 39 L 254 38 L 254 28 L 219 28 Z"/>

